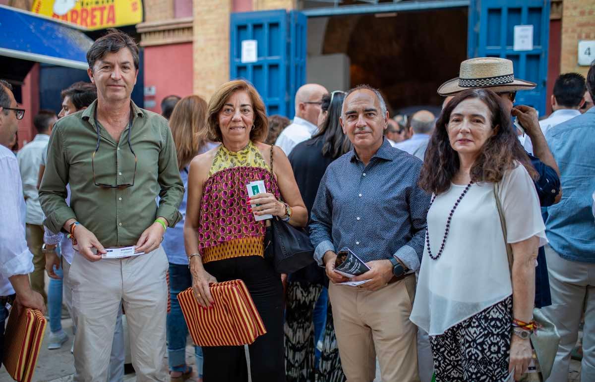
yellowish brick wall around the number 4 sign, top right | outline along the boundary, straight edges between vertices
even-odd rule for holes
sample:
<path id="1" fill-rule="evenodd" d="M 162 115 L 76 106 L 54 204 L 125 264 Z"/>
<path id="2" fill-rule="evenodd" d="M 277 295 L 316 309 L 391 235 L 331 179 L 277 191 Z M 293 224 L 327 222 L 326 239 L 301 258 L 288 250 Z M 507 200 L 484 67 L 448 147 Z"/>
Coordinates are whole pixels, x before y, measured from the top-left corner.
<path id="1" fill-rule="evenodd" d="M 595 40 L 595 0 L 563 1 L 560 73 L 587 74 L 589 67 L 577 63 L 578 40 Z"/>

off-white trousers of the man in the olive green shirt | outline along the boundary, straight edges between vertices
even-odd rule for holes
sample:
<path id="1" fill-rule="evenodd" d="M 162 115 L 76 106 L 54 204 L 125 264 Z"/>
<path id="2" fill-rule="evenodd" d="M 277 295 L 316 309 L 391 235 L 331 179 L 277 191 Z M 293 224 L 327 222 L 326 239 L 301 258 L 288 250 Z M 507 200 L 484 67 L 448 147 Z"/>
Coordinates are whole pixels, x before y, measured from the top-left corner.
<path id="1" fill-rule="evenodd" d="M 68 270 L 77 321 L 74 381 L 107 380 L 120 302 L 126 311 L 136 380 L 165 381 L 168 261 L 161 246 L 126 259 L 87 261 L 75 252 Z"/>

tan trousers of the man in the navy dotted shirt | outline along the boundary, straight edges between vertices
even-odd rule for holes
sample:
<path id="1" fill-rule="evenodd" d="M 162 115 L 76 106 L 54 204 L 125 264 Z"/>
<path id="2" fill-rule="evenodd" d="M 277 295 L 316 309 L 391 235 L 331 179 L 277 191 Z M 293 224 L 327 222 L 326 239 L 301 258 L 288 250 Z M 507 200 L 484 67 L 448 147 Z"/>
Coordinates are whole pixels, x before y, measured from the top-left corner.
<path id="1" fill-rule="evenodd" d="M 378 356 L 383 382 L 419 381 L 417 327 L 409 321 L 415 277 L 369 292 L 330 284 L 328 296 L 348 382 L 371 382 Z"/>

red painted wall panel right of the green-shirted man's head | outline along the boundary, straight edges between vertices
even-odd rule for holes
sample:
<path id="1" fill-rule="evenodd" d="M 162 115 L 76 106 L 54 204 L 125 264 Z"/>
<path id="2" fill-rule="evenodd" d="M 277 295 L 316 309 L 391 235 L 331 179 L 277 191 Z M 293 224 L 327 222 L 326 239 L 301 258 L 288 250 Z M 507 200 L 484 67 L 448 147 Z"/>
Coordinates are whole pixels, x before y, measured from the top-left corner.
<path id="1" fill-rule="evenodd" d="M 161 100 L 168 95 L 192 95 L 192 43 L 145 46 L 145 87 L 155 86 L 155 95 L 145 95 L 145 108 L 161 114 Z M 155 107 L 148 102 L 155 101 Z"/>

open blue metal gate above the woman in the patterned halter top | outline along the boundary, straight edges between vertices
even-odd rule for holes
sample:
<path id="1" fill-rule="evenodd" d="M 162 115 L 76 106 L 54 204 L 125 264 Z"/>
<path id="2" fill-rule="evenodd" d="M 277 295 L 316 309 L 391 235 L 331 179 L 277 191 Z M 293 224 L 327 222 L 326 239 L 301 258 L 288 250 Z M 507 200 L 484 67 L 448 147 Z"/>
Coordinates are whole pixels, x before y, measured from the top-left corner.
<path id="1" fill-rule="evenodd" d="M 286 10 L 238 12 L 231 14 L 230 28 L 231 79 L 249 80 L 267 114 L 293 118 L 293 98 L 306 79 L 305 15 Z M 256 40 L 255 62 L 242 62 L 244 40 Z"/>

